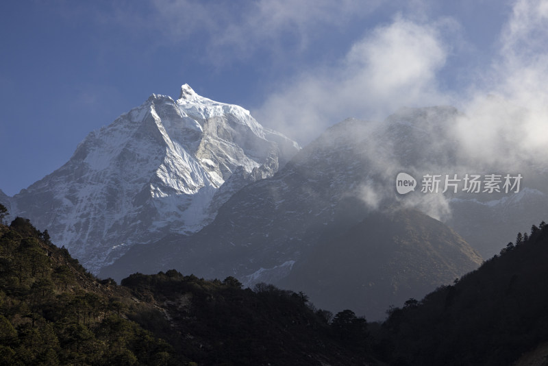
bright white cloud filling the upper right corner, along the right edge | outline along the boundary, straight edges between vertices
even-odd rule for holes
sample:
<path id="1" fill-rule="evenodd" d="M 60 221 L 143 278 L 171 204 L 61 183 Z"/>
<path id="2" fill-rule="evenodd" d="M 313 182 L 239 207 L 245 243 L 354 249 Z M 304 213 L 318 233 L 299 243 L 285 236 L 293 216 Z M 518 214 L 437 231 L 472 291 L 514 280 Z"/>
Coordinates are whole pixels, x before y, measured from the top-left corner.
<path id="1" fill-rule="evenodd" d="M 548 154 L 548 3 L 519 0 L 456 132 L 475 160 L 519 168 Z M 490 95 L 487 97 L 487 95 Z M 467 96 L 465 96 L 467 97 Z M 463 99 L 465 98 L 463 97 Z"/>

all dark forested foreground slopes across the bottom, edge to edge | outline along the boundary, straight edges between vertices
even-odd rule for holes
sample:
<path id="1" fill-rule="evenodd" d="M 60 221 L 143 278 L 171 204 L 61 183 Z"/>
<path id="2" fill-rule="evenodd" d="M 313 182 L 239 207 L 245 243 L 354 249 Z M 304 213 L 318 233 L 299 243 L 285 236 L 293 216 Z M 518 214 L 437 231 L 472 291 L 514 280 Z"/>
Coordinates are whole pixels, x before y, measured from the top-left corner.
<path id="1" fill-rule="evenodd" d="M 547 225 L 501 247 L 368 324 L 233 277 L 100 280 L 17 217 L 0 223 L 0 365 L 542 365 L 525 360 L 548 354 Z"/>

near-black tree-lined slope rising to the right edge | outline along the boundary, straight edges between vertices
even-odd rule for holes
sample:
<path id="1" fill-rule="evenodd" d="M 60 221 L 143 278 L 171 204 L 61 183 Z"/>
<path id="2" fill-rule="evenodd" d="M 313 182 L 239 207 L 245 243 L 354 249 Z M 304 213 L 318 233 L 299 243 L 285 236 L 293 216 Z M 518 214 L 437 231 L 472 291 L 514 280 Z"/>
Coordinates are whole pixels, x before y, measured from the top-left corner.
<path id="1" fill-rule="evenodd" d="M 394 365 L 512 365 L 522 354 L 526 359 L 526 352 L 548 341 L 547 263 L 543 223 L 532 228 L 530 239 L 508 245 L 456 284 L 393 309 L 379 344 Z"/>

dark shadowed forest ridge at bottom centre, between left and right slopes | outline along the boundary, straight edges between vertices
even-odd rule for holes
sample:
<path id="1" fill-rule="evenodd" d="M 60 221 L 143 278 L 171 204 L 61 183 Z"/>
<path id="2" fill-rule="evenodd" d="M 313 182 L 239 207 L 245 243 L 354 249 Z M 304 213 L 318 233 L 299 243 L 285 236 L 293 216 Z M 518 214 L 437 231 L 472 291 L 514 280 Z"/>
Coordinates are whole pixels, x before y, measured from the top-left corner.
<path id="1" fill-rule="evenodd" d="M 206 281 L 174 270 L 136 273 L 122 284 L 163 309 L 171 343 L 199 365 L 379 364 L 367 356 L 364 329 L 338 334 L 303 293 L 266 284 L 251 291 L 235 278 Z"/>

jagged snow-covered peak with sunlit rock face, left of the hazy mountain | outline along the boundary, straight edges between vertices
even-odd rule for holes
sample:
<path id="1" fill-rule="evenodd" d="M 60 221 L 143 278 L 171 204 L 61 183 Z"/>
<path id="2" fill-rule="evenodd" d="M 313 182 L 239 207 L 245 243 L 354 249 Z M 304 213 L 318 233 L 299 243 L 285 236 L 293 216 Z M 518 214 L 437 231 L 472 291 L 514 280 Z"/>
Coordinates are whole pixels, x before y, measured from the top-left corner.
<path id="1" fill-rule="evenodd" d="M 136 243 L 203 228 L 232 193 L 298 150 L 248 110 L 184 84 L 179 99 L 151 95 L 88 134 L 60 169 L 2 199 L 97 271 Z"/>

